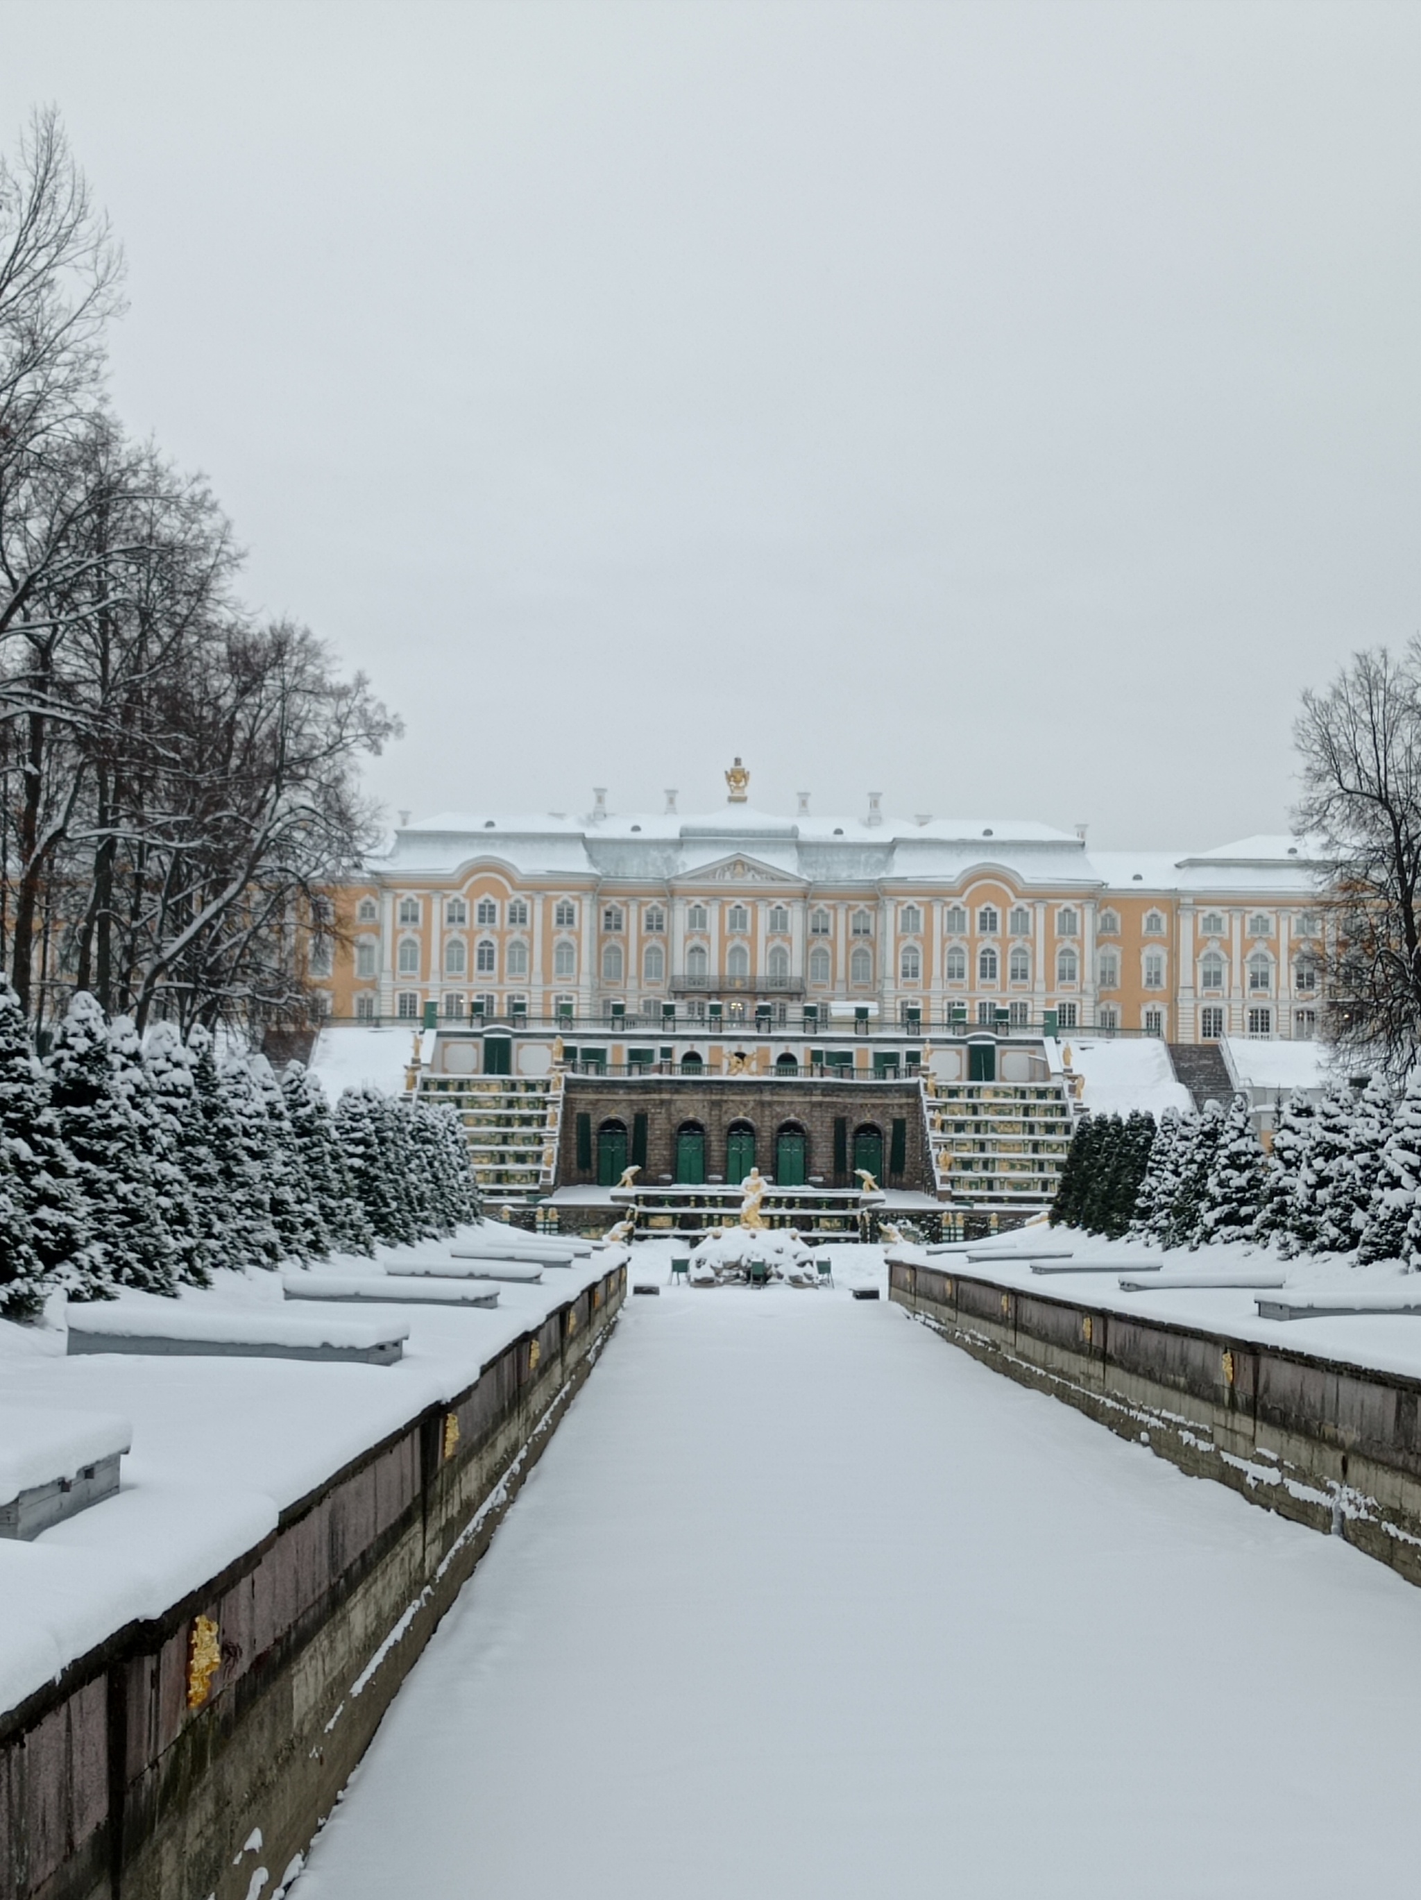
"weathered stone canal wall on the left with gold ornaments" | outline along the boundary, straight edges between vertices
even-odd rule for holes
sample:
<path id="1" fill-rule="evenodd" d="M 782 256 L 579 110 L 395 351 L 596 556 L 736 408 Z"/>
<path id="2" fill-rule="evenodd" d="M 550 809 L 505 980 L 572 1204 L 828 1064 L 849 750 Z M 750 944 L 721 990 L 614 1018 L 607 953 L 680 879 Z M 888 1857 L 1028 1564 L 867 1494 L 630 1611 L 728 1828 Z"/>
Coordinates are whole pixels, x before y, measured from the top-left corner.
<path id="1" fill-rule="evenodd" d="M 0 1716 L 4 1900 L 272 1894 L 600 1351 L 625 1267 Z M 194 1662 L 217 1664 L 194 1697 Z M 260 1830 L 260 1852 L 243 1843 Z M 268 1881 L 253 1887 L 258 1868 Z"/>

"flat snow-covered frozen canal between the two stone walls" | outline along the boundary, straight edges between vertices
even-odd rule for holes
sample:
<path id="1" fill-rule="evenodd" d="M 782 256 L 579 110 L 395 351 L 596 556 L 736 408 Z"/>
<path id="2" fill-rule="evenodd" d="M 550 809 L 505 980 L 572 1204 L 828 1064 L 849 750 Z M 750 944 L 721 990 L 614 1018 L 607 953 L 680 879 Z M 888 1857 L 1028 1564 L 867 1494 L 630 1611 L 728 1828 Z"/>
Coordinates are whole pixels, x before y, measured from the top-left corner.
<path id="1" fill-rule="evenodd" d="M 1402 1892 L 1419 1712 L 1339 1541 L 885 1303 L 665 1292 L 293 1900 Z"/>

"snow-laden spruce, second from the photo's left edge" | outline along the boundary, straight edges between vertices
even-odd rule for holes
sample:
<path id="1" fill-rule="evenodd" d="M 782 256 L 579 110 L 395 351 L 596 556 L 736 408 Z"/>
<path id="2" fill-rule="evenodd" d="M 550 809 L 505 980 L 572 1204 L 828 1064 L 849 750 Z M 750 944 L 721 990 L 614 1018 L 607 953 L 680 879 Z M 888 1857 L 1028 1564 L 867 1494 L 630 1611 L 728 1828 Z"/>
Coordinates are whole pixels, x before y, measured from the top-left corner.
<path id="1" fill-rule="evenodd" d="M 108 1060 L 108 1024 L 80 990 L 55 1030 L 49 1083 L 59 1132 L 74 1155 L 97 1248 L 97 1286 L 171 1294 L 177 1250 L 158 1199 L 152 1163 Z"/>

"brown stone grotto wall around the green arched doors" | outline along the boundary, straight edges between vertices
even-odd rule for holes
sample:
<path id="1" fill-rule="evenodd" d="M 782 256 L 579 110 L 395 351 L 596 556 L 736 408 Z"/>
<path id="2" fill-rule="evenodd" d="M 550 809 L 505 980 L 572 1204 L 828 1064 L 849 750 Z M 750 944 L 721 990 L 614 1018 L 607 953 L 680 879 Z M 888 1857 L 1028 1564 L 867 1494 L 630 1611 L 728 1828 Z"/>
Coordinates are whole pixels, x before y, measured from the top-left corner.
<path id="1" fill-rule="evenodd" d="M 578 1167 L 578 1115 L 591 1115 L 593 1165 Z M 726 1174 L 726 1136 L 733 1121 L 748 1121 L 756 1130 L 756 1163 L 764 1174 L 775 1172 L 775 1134 L 792 1121 L 807 1134 L 805 1174 L 821 1174 L 824 1188 L 855 1188 L 853 1130 L 874 1125 L 883 1134 L 885 1188 L 933 1193 L 933 1159 L 923 1121 L 918 1083 L 840 1083 L 726 1075 L 648 1075 L 619 1077 L 570 1075 L 562 1102 L 559 1146 L 559 1186 L 597 1180 L 597 1129 L 602 1121 L 621 1121 L 631 1138 L 636 1115 L 646 1115 L 646 1167 L 642 1186 L 655 1186 L 676 1172 L 676 1129 L 699 1121 L 707 1140 L 707 1176 Z M 847 1168 L 834 1170 L 834 1121 L 843 1119 Z M 904 1121 L 906 1155 L 902 1174 L 889 1170 L 889 1144 L 895 1119 Z"/>

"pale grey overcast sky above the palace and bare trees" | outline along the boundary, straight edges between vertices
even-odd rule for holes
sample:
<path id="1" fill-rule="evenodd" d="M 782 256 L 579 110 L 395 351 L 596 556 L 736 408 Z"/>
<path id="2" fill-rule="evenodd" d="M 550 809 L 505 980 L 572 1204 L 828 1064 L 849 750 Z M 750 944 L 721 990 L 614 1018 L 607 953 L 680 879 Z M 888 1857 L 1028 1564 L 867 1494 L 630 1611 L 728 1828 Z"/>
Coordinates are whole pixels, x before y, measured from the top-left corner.
<path id="1" fill-rule="evenodd" d="M 1421 8 L 4 0 L 391 809 L 1280 828 L 1421 627 Z"/>

